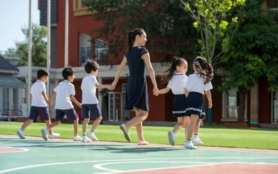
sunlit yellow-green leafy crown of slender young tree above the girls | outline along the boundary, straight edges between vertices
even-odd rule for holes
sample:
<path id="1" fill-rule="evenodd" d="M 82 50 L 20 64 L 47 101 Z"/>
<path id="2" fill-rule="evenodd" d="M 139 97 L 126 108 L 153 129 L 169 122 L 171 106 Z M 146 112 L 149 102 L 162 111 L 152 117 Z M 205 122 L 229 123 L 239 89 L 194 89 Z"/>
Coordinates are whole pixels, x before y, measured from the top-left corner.
<path id="1" fill-rule="evenodd" d="M 183 2 L 185 10 L 194 18 L 194 28 L 201 33 L 198 40 L 201 46 L 201 56 L 208 58 L 212 65 L 216 65 L 219 56 L 226 49 L 225 39 L 228 26 L 234 29 L 237 17 L 233 16 L 232 9 L 242 6 L 245 0 L 188 0 Z M 219 47 L 220 46 L 220 47 Z M 217 47 L 219 47 L 217 49 Z"/>

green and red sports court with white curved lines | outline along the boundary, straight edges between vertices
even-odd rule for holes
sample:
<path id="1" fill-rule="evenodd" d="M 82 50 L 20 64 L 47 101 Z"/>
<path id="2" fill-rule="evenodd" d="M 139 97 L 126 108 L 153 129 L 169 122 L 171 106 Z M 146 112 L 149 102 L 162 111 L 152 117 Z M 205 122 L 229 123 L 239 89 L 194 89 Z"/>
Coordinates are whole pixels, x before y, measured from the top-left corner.
<path id="1" fill-rule="evenodd" d="M 278 173 L 277 150 L 0 135 L 0 173 Z"/>

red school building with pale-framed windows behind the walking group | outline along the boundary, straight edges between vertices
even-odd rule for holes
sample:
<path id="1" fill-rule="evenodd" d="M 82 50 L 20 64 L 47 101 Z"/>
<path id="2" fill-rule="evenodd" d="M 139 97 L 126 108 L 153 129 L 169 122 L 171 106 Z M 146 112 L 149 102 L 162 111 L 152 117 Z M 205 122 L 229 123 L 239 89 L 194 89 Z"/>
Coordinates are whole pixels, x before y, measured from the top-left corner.
<path id="1" fill-rule="evenodd" d="M 46 25 L 47 1 L 39 0 L 39 2 L 40 23 L 41 25 Z M 65 1 L 52 0 L 51 2 L 51 68 L 55 70 L 53 72 L 54 76 L 52 77 L 52 73 L 50 75 L 50 82 L 53 88 L 61 80 L 60 74 L 65 61 Z M 278 5 L 277 1 L 265 1 L 263 6 L 275 10 Z M 93 19 L 92 15 L 95 14 L 88 13 L 81 0 L 69 1 L 68 14 L 68 65 L 77 71 L 74 84 L 77 100 L 81 101 L 80 85 L 85 75 L 83 65 L 92 56 L 95 61 L 100 60 L 107 53 L 108 43 L 103 38 L 97 38 L 95 33 L 91 33 L 92 30 L 102 27 L 103 23 Z M 152 58 L 152 60 L 155 60 L 155 58 Z M 114 80 L 117 67 L 118 65 L 114 62 L 111 62 L 110 65 L 100 65 L 100 72 L 98 74 L 99 83 L 111 84 Z M 167 64 L 153 63 L 153 68 L 155 69 L 157 84 L 160 84 L 160 74 L 167 68 Z M 124 110 L 125 86 L 128 74 L 128 68 L 125 68 L 121 73 L 121 79 L 118 81 L 115 90 L 98 91 L 104 120 L 126 120 L 134 116 L 133 112 Z M 153 96 L 153 86 L 149 77 L 147 81 L 150 103 L 148 121 L 176 121 L 171 116 L 173 95 L 168 93 L 158 97 Z M 239 106 L 238 91 L 233 89 L 228 92 L 221 92 L 216 90 L 216 87 L 219 85 L 221 85 L 221 81 L 213 79 L 215 89 L 212 90 L 212 122 L 215 124 L 236 122 Z M 164 87 L 158 86 L 158 88 Z M 208 122 L 208 120 L 204 122 Z M 268 91 L 267 81 L 263 78 L 258 79 L 257 85 L 247 95 L 245 122 L 247 124 L 259 122 L 264 127 L 277 127 L 278 125 L 278 91 Z"/>

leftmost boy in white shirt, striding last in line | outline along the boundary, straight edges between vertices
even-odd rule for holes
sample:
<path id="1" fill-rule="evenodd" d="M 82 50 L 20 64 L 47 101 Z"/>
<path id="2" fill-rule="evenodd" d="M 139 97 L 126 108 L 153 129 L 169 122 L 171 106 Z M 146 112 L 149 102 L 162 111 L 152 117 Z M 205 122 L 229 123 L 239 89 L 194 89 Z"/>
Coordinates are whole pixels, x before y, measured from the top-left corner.
<path id="1" fill-rule="evenodd" d="M 30 97 L 31 97 L 31 110 L 28 120 L 26 120 L 20 129 L 17 129 L 17 134 L 20 136 L 20 139 L 25 139 L 24 129 L 31 125 L 31 123 L 40 117 L 40 120 L 44 120 L 46 125 L 51 124 L 49 113 L 47 110 L 47 105 L 50 104 L 46 94 L 45 83 L 48 80 L 49 72 L 45 69 L 39 69 L 37 72 L 38 80 L 31 86 Z M 52 132 L 52 129 L 49 129 L 49 138 L 54 139 L 60 134 Z"/>

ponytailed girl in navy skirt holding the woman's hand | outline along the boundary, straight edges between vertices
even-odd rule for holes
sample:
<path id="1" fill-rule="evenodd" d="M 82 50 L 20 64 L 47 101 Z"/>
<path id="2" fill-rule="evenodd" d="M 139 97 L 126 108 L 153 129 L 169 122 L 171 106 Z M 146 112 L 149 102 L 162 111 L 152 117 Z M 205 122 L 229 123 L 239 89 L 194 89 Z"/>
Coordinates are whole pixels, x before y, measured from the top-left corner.
<path id="1" fill-rule="evenodd" d="M 185 58 L 174 57 L 171 67 L 166 70 L 165 77 L 162 77 L 162 84 L 168 84 L 166 88 L 158 90 L 157 94 L 168 93 L 172 90 L 173 98 L 173 117 L 178 122 L 173 130 L 168 132 L 168 139 L 171 145 L 175 145 L 175 134 L 181 127 L 185 127 L 185 139 L 187 137 L 188 127 L 190 125 L 190 116 L 186 115 L 186 96 L 185 82 L 187 81 L 187 61 Z"/>

